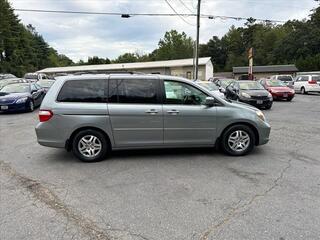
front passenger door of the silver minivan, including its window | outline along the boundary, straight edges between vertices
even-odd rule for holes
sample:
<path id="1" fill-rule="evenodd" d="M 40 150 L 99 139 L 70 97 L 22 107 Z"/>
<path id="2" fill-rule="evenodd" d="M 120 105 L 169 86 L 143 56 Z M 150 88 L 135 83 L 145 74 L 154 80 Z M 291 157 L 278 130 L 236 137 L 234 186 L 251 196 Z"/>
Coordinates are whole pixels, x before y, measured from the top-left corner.
<path id="1" fill-rule="evenodd" d="M 216 107 L 203 105 L 206 97 L 206 93 L 190 84 L 164 81 L 164 144 L 214 144 Z"/>

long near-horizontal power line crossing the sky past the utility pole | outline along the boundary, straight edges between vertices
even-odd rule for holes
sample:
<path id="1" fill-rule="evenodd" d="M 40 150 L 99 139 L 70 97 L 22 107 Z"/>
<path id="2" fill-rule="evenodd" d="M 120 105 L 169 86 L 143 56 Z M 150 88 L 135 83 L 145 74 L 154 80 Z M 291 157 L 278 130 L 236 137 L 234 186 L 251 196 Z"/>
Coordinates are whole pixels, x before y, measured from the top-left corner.
<path id="1" fill-rule="evenodd" d="M 165 0 L 167 1 L 167 0 Z M 173 8 L 174 9 L 174 8 Z M 175 13 L 121 13 L 121 12 L 88 12 L 88 11 L 69 11 L 69 10 L 45 10 L 45 9 L 22 9 L 15 8 L 17 12 L 37 12 L 37 13 L 53 13 L 53 14 L 87 14 L 87 15 L 109 15 L 109 16 L 121 16 L 121 17 L 132 17 L 132 16 L 149 16 L 149 17 L 196 17 L 197 14 L 194 13 L 178 13 L 175 9 Z M 252 18 L 256 21 L 262 22 L 273 22 L 273 23 L 284 23 L 283 20 L 272 20 L 272 19 L 262 19 L 254 17 L 238 17 L 238 16 L 225 16 L 225 15 L 211 15 L 211 14 L 201 14 L 201 18 L 209 19 L 222 19 L 222 20 L 245 20 Z M 183 19 L 185 21 L 185 19 Z"/>

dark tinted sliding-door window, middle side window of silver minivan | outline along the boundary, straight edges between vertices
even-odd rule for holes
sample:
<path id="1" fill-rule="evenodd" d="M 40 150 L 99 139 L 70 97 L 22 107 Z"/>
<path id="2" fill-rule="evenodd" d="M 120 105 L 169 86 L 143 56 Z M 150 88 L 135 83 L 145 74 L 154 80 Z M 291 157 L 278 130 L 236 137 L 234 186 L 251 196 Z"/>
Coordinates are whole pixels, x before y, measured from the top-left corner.
<path id="1" fill-rule="evenodd" d="M 158 103 L 158 84 L 156 79 L 110 80 L 108 102 Z"/>

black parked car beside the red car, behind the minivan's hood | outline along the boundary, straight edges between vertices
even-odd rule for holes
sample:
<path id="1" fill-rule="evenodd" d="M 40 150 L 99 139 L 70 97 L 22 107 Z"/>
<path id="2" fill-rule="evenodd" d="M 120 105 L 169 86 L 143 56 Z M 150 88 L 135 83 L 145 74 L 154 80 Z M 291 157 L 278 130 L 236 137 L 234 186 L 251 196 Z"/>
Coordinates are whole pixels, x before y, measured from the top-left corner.
<path id="1" fill-rule="evenodd" d="M 259 82 L 236 81 L 231 83 L 225 92 L 227 99 L 244 102 L 257 108 L 270 109 L 273 98 Z"/>

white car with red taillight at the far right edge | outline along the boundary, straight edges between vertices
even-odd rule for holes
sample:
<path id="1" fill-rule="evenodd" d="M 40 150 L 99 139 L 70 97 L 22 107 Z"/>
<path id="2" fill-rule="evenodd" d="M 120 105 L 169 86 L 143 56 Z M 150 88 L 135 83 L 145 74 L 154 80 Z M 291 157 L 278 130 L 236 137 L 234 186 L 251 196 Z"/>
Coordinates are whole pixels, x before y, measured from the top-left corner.
<path id="1" fill-rule="evenodd" d="M 309 92 L 320 93 L 320 76 L 319 75 L 299 75 L 293 82 L 296 92 L 308 94 Z"/>

